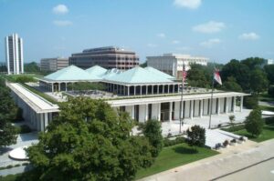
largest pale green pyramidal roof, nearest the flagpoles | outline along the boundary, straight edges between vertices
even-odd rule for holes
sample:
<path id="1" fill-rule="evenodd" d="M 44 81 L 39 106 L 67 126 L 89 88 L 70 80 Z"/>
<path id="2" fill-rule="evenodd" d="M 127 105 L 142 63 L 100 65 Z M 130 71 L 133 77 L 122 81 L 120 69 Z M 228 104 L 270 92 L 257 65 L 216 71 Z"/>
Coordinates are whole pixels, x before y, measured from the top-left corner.
<path id="1" fill-rule="evenodd" d="M 155 75 L 152 72 L 136 66 L 119 75 L 113 75 L 106 78 L 106 80 L 113 82 L 121 82 L 126 84 L 145 84 L 145 83 L 170 83 L 173 82 L 161 75 Z"/>

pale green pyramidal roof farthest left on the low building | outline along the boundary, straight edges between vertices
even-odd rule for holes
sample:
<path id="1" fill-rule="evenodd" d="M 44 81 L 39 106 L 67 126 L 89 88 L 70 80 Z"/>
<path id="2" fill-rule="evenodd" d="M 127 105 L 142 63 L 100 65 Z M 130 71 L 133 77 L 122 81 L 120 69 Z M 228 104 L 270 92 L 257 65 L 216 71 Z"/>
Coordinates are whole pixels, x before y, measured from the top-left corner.
<path id="1" fill-rule="evenodd" d="M 44 78 L 49 80 L 63 80 L 63 81 L 77 81 L 77 80 L 92 80 L 100 79 L 98 76 L 90 75 L 83 69 L 69 65 L 66 68 L 60 69 L 55 73 L 45 76 Z"/>

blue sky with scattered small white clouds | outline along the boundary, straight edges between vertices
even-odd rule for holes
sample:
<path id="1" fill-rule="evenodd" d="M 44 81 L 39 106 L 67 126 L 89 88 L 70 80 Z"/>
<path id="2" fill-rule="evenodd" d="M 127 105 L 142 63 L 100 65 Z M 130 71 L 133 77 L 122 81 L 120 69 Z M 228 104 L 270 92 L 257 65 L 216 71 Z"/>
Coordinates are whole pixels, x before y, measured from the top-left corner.
<path id="1" fill-rule="evenodd" d="M 273 9 L 273 0 L 0 0 L 0 62 L 13 33 L 25 62 L 108 45 L 141 62 L 164 53 L 273 59 Z"/>

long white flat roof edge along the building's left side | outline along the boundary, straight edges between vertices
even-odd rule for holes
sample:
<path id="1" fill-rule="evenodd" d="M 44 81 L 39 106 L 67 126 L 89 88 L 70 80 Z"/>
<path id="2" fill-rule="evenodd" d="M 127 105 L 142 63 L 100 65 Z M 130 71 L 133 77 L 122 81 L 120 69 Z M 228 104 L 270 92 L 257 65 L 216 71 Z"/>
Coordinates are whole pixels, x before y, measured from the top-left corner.
<path id="1" fill-rule="evenodd" d="M 26 102 L 26 104 L 32 107 L 32 109 L 35 110 L 37 113 L 50 113 L 59 111 L 58 105 L 54 105 L 48 102 L 43 97 L 29 91 L 24 86 L 17 83 L 11 83 L 8 85 L 16 93 L 17 96 L 22 98 Z"/>

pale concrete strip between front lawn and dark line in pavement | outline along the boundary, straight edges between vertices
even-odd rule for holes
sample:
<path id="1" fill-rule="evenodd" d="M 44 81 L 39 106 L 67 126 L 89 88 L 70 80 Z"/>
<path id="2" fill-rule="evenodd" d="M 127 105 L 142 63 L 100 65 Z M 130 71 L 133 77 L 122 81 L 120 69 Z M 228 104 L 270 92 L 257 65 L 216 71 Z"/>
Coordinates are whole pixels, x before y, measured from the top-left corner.
<path id="1" fill-rule="evenodd" d="M 262 143 L 248 141 L 239 146 L 220 150 L 222 154 L 205 158 L 194 163 L 175 167 L 162 173 L 142 178 L 142 181 L 191 181 L 213 180 L 230 176 L 235 172 L 254 166 L 263 160 L 274 157 L 274 139 Z M 274 166 L 273 166 L 274 168 Z M 274 176 L 274 175 L 273 175 Z M 257 180 L 251 177 L 248 181 Z M 274 180 L 274 177 L 273 179 Z M 264 181 L 260 179 L 260 181 Z"/>

